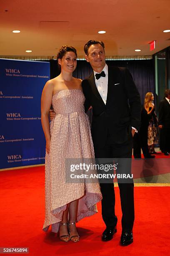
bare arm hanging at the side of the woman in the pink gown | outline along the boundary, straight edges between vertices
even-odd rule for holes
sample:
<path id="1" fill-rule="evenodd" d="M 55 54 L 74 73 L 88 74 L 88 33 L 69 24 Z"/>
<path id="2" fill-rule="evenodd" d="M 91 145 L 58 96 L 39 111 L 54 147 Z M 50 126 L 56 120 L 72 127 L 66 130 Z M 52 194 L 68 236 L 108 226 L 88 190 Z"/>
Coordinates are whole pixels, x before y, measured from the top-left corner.
<path id="1" fill-rule="evenodd" d="M 47 81 L 44 89 L 42 90 L 42 96 L 41 96 L 41 123 L 42 123 L 42 129 L 45 134 L 45 140 L 46 140 L 46 151 L 49 154 L 50 152 L 50 124 L 49 124 L 49 110 L 51 107 L 52 102 L 52 94 L 53 94 L 53 84 L 51 81 Z"/>

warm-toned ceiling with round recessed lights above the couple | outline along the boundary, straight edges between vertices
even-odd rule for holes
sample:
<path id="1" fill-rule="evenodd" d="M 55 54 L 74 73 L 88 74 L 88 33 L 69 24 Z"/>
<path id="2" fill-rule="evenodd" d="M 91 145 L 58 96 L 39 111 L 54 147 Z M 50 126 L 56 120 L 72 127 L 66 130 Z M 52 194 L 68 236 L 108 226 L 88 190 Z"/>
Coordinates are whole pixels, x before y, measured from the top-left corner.
<path id="1" fill-rule="evenodd" d="M 70 44 L 83 58 L 90 39 L 104 41 L 108 57 L 152 55 L 170 46 L 165 29 L 170 0 L 0 0 L 0 56 L 56 56 Z"/>

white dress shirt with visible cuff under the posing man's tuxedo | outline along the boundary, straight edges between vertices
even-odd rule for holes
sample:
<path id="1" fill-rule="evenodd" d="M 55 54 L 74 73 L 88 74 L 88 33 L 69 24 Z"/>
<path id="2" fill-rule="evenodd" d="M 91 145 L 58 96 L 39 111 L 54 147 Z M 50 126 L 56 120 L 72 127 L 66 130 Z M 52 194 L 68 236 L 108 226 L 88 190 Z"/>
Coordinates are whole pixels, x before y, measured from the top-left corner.
<path id="1" fill-rule="evenodd" d="M 102 71 L 105 72 L 106 76 L 105 77 L 100 77 L 98 80 L 95 77 L 95 84 L 96 84 L 98 92 L 100 93 L 100 96 L 102 97 L 103 102 L 106 105 L 107 86 L 108 86 L 108 66 L 107 66 L 107 64 L 105 64 L 105 67 Z M 100 74 L 100 73 L 95 72 L 94 70 L 93 70 L 93 72 L 94 72 L 94 75 L 95 74 Z M 132 127 L 132 128 L 135 130 L 136 133 L 138 133 L 138 130 L 136 128 L 134 128 L 134 127 Z"/>

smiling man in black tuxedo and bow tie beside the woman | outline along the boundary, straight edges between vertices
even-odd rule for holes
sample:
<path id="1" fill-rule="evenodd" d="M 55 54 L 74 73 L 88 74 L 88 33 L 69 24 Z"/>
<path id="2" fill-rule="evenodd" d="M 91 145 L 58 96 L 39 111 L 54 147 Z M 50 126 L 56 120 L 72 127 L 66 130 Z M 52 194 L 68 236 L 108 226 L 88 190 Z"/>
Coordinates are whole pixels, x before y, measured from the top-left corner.
<path id="1" fill-rule="evenodd" d="M 92 106 L 92 139 L 96 158 L 131 158 L 133 135 L 140 127 L 140 95 L 126 68 L 107 67 L 102 41 L 90 40 L 84 46 L 85 58 L 93 69 L 82 81 L 85 111 Z M 134 184 L 118 183 L 122 207 L 121 245 L 133 242 Z M 117 231 L 114 183 L 101 183 L 102 218 L 106 229 L 103 241 Z"/>

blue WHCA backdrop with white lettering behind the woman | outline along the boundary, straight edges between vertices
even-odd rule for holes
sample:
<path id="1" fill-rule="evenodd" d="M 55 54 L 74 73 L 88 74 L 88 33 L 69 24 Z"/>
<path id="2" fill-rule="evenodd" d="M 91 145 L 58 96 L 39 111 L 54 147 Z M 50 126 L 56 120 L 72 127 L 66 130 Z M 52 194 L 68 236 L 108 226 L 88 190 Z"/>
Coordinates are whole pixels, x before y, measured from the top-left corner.
<path id="1" fill-rule="evenodd" d="M 0 170 L 45 163 L 40 101 L 50 63 L 0 59 Z"/>

